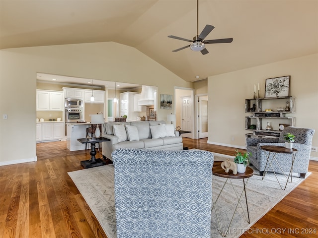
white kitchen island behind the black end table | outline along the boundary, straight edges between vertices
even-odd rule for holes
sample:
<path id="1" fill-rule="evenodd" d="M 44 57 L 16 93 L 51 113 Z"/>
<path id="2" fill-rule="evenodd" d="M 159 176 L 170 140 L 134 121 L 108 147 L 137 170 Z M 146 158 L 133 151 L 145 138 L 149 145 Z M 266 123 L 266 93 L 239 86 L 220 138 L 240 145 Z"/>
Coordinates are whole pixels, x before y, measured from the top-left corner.
<path id="1" fill-rule="evenodd" d="M 86 137 L 86 128 L 90 127 L 90 122 L 78 123 L 67 122 L 67 148 L 70 151 L 84 150 L 85 144 L 78 141 L 79 138 Z M 90 149 L 90 144 L 88 144 Z"/>

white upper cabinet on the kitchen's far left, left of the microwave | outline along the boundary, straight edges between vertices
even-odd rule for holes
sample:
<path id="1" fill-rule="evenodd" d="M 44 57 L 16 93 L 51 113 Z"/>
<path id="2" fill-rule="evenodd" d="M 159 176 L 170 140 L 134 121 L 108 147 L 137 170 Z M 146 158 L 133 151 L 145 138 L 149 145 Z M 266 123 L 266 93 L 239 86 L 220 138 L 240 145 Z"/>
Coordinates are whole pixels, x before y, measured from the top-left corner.
<path id="1" fill-rule="evenodd" d="M 61 91 L 36 90 L 36 111 L 63 111 L 63 102 Z"/>

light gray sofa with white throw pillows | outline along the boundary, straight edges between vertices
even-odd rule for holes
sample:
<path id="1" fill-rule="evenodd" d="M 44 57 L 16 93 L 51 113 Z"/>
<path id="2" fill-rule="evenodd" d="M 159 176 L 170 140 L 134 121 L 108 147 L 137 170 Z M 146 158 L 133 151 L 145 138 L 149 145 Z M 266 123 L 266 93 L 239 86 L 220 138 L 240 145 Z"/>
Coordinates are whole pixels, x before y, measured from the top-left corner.
<path id="1" fill-rule="evenodd" d="M 102 136 L 110 141 L 102 142 L 102 155 L 112 160 L 116 149 L 182 150 L 182 137 L 172 124 L 163 120 L 106 122 Z"/>

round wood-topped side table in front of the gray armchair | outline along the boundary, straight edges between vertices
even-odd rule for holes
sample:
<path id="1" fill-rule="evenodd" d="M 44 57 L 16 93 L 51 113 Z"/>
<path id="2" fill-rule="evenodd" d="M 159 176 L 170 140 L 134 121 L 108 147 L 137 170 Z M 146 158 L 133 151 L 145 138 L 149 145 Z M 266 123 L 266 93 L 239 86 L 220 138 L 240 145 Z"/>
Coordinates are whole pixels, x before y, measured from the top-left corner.
<path id="1" fill-rule="evenodd" d="M 295 158 L 296 158 L 296 153 L 298 152 L 297 149 L 286 149 L 284 146 L 277 146 L 277 145 L 262 145 L 260 147 L 262 150 L 267 151 L 267 161 L 266 161 L 266 165 L 265 165 L 265 169 L 264 169 L 264 174 L 263 174 L 263 178 L 265 178 L 265 175 L 268 172 L 269 168 L 272 168 L 272 171 L 279 183 L 279 186 L 282 190 L 286 189 L 287 183 L 289 182 L 289 178 L 290 178 L 290 182 L 292 182 L 293 179 L 293 166 L 294 166 L 294 162 L 295 162 Z M 276 155 L 277 154 L 291 154 L 292 155 L 292 161 L 291 161 L 291 167 L 290 167 L 290 171 L 288 174 L 288 177 L 286 176 L 285 172 L 283 171 L 282 167 L 279 164 L 279 160 L 276 159 Z M 285 176 L 285 178 L 287 179 L 285 187 L 283 188 L 281 183 L 279 182 L 279 179 L 276 176 L 275 170 L 272 166 L 272 162 L 273 160 L 276 162 L 276 164 L 278 165 L 278 167 L 280 168 L 280 170 L 282 171 L 283 175 Z"/>

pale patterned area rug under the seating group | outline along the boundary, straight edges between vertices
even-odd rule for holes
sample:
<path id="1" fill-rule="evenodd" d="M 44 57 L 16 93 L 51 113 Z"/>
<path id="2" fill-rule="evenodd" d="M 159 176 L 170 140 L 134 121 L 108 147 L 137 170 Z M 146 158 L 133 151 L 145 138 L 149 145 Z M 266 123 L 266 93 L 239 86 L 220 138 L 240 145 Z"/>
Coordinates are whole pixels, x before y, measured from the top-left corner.
<path id="1" fill-rule="evenodd" d="M 215 161 L 234 158 L 233 156 L 219 155 L 220 154 L 215 154 Z M 78 187 L 79 192 L 99 221 L 107 237 L 116 238 L 113 165 L 79 170 L 69 172 L 68 174 Z M 310 174 L 311 173 L 308 173 L 308 175 Z M 277 176 L 278 179 L 282 181 L 285 179 L 282 175 Z M 223 233 L 228 232 L 228 238 L 238 238 L 303 180 L 304 179 L 293 177 L 292 183 L 287 184 L 286 190 L 281 190 L 272 173 L 268 173 L 263 180 L 262 177 L 258 175 L 252 176 L 246 186 L 250 223 L 247 222 L 245 216 L 247 215 L 246 203 L 245 196 L 243 195 L 241 206 L 238 207 L 230 229 L 228 229 L 228 226 L 235 211 L 238 198 L 231 183 L 228 182 L 216 203 L 221 230 L 217 223 L 215 210 L 213 209 L 211 217 L 211 238 L 221 238 L 221 231 Z M 243 187 L 242 179 L 231 179 L 231 181 L 237 193 L 240 193 Z M 224 182 L 224 178 L 213 176 L 212 196 L 214 201 L 220 193 Z"/>

